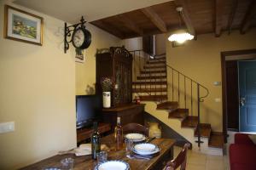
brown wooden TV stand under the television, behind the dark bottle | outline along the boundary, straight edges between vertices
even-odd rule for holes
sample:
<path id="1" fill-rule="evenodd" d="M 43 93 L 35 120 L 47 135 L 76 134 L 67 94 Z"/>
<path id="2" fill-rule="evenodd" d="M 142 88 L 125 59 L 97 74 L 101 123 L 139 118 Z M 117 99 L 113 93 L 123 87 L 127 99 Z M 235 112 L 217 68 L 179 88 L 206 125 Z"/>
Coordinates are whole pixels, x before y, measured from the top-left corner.
<path id="1" fill-rule="evenodd" d="M 98 132 L 100 134 L 108 133 L 111 130 L 111 125 L 105 122 L 99 122 Z M 93 127 L 82 127 L 77 129 L 77 143 L 81 143 L 90 139 L 90 135 L 93 133 Z"/>

